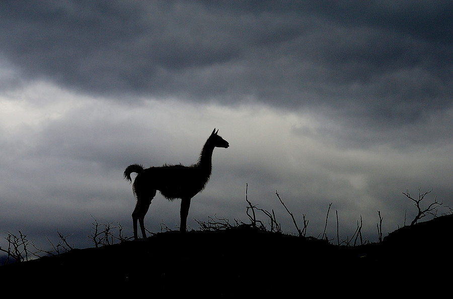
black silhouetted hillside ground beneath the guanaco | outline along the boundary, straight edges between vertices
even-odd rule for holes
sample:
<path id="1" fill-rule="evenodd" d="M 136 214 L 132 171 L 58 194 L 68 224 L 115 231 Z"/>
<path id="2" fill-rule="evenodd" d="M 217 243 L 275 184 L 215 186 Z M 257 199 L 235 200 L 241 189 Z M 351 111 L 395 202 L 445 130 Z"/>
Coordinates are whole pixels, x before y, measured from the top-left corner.
<path id="1" fill-rule="evenodd" d="M 372 294 L 417 287 L 413 278 L 423 278 L 426 269 L 438 274 L 442 264 L 449 267 L 452 236 L 453 215 L 403 227 L 380 244 L 356 247 L 246 226 L 166 232 L 0 266 L 0 278 L 4 289 L 21 286 L 16 294 Z"/>

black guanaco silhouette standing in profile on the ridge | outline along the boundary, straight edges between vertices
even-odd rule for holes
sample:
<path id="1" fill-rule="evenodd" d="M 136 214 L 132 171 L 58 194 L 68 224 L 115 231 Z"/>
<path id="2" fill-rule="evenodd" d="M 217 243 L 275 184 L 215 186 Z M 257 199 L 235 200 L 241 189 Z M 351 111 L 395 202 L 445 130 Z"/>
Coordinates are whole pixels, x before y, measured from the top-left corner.
<path id="1" fill-rule="evenodd" d="M 132 212 L 134 239 L 138 239 L 137 221 L 140 224 L 141 236 L 146 238 L 143 220 L 148 212 L 149 205 L 159 190 L 169 201 L 181 198 L 181 225 L 180 231 L 186 231 L 187 215 L 189 215 L 190 201 L 193 196 L 204 189 L 212 172 L 212 152 L 214 147 L 228 148 L 230 144 L 212 131 L 201 150 L 196 164 L 191 166 L 163 165 L 160 167 L 143 168 L 142 165 L 132 164 L 124 170 L 124 178 L 132 182 L 130 174 L 137 173 L 132 184 L 133 193 L 137 199 Z"/>

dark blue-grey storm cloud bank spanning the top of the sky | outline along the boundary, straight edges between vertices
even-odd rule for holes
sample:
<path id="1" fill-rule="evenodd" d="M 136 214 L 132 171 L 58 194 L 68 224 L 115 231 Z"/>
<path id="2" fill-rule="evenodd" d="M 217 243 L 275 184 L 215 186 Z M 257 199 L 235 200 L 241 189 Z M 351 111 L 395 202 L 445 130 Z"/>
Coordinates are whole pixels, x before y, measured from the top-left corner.
<path id="1" fill-rule="evenodd" d="M 22 75 L 84 92 L 252 98 L 377 129 L 451 105 L 448 2 L 2 2 L 0 12 L 0 52 Z"/>

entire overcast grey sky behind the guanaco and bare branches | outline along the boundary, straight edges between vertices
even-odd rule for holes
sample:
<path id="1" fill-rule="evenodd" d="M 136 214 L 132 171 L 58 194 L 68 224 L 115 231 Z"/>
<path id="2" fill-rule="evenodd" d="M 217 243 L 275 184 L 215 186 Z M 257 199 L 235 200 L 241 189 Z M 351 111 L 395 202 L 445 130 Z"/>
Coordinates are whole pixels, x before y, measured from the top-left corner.
<path id="1" fill-rule="evenodd" d="M 247 220 L 377 239 L 415 217 L 400 190 L 453 207 L 453 4 L 442 1 L 0 2 L 0 229 L 132 233 L 132 163 L 192 164 L 214 128 L 188 225 Z M 432 196 L 431 196 L 432 195 Z M 423 202 L 422 202 L 423 203 Z M 145 218 L 179 225 L 158 194 Z M 0 241 L 3 242 L 3 241 Z M 4 243 L 0 243 L 5 245 Z M 43 244 L 44 247 L 46 244 Z"/>

